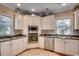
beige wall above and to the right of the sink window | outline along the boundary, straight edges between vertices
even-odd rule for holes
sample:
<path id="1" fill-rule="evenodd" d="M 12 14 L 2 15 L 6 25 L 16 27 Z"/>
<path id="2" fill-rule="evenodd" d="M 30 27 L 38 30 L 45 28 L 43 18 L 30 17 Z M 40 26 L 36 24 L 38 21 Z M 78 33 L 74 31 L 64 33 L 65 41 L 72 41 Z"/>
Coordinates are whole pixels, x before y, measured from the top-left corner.
<path id="1" fill-rule="evenodd" d="M 72 17 L 72 20 L 73 20 L 73 24 L 72 24 L 73 25 L 73 34 L 79 35 L 79 30 L 74 30 L 74 12 L 72 10 L 57 13 L 55 16 L 55 19 L 65 18 L 65 17 L 69 17 L 69 16 Z"/>

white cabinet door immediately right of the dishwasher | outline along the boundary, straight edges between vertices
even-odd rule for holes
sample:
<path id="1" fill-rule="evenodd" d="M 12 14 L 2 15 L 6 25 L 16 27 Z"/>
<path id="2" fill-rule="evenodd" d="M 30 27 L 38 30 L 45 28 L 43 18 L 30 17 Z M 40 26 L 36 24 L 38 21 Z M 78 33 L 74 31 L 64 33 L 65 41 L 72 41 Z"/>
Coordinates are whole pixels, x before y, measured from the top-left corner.
<path id="1" fill-rule="evenodd" d="M 55 39 L 55 51 L 59 53 L 64 53 L 64 40 L 63 39 Z"/>

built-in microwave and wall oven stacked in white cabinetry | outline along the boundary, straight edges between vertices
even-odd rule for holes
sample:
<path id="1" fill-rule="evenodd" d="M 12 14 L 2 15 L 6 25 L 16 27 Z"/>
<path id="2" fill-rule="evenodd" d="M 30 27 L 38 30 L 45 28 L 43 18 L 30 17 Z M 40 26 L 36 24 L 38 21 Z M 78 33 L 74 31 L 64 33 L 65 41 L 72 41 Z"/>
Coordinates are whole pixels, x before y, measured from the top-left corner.
<path id="1" fill-rule="evenodd" d="M 28 26 L 28 43 L 38 42 L 38 26 Z"/>

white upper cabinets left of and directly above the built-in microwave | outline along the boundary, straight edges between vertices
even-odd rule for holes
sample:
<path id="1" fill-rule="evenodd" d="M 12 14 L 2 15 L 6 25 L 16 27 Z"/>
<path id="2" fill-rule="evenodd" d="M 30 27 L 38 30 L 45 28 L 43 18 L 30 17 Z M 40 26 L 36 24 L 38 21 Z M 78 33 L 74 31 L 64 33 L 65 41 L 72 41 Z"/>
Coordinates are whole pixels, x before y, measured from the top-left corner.
<path id="1" fill-rule="evenodd" d="M 28 25 L 40 25 L 39 16 L 15 15 L 15 30 L 24 30 Z"/>

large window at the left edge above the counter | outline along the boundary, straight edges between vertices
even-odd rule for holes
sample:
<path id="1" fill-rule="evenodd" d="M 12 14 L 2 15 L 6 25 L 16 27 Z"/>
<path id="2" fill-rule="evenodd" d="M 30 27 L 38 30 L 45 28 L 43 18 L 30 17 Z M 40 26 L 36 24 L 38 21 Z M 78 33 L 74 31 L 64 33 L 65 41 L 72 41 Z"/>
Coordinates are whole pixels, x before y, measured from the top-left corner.
<path id="1" fill-rule="evenodd" d="M 11 32 L 11 18 L 0 15 L 0 36 L 8 36 Z"/>

